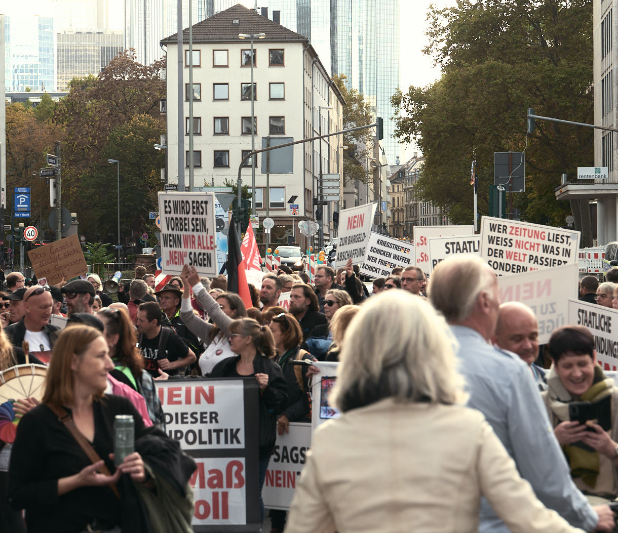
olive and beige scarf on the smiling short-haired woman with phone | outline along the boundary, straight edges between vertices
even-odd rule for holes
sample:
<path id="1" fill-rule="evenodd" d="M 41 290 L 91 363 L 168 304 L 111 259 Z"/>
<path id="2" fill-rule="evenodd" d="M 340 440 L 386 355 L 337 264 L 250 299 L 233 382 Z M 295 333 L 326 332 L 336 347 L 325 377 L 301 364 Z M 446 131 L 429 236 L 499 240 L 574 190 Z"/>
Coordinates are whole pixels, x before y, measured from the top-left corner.
<path id="1" fill-rule="evenodd" d="M 559 422 L 569 420 L 569 403 L 576 401 L 571 393 L 562 385 L 562 382 L 554 370 L 551 368 L 547 377 L 549 408 L 556 415 Z M 603 369 L 595 366 L 595 376 L 592 386 L 582 394 L 581 401 L 598 401 L 612 393 L 614 380 L 606 378 Z M 589 487 L 594 488 L 596 478 L 599 475 L 599 453 L 591 450 L 583 443 L 574 443 L 562 447 L 564 455 L 569 462 L 572 477 L 581 477 L 583 482 Z"/>

